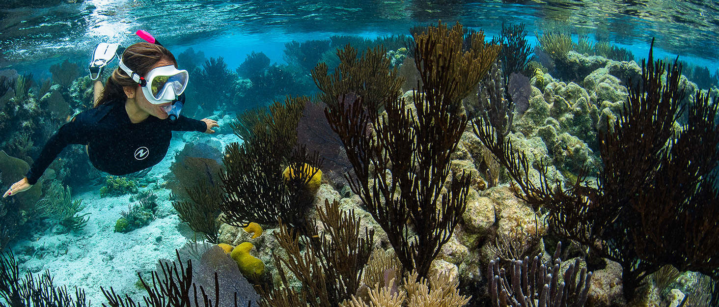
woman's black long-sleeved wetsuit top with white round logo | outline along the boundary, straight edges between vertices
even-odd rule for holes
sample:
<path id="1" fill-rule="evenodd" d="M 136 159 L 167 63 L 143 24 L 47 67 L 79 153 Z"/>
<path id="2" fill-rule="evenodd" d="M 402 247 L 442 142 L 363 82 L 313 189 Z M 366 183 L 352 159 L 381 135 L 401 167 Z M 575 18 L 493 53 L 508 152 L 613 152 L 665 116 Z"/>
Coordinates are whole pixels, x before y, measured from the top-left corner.
<path id="1" fill-rule="evenodd" d="M 29 172 L 27 182 L 37 183 L 48 165 L 70 144 L 88 145 L 90 161 L 111 175 L 127 175 L 156 165 L 168 153 L 173 131 L 205 132 L 207 125 L 180 116 L 174 122 L 149 116 L 132 124 L 124 101 L 113 101 L 83 111 L 60 127 L 42 148 Z"/>

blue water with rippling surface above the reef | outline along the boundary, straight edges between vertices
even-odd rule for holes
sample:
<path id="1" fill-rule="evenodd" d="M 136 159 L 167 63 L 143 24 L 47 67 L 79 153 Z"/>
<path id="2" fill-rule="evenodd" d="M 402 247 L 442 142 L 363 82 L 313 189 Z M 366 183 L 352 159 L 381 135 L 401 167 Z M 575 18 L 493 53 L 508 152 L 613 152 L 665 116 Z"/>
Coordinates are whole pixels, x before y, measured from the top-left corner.
<path id="1" fill-rule="evenodd" d="M 203 47 L 226 59 L 262 51 L 281 63 L 285 42 L 333 34 L 407 35 L 409 27 L 462 22 L 498 32 L 502 22 L 527 24 L 530 34 L 556 29 L 599 37 L 646 54 L 659 52 L 710 68 L 719 66 L 715 1 L 126 1 L 12 7 L 0 4 L 0 67 L 40 70 L 66 58 L 86 61 L 98 42 L 130 45 L 137 29 L 177 48 Z M 218 47 L 220 46 L 220 47 Z M 183 50 L 183 49 L 182 49 Z M 273 52 L 274 50 L 274 52 Z M 236 65 L 229 60 L 229 66 Z M 710 69 L 713 70 L 713 69 Z"/>

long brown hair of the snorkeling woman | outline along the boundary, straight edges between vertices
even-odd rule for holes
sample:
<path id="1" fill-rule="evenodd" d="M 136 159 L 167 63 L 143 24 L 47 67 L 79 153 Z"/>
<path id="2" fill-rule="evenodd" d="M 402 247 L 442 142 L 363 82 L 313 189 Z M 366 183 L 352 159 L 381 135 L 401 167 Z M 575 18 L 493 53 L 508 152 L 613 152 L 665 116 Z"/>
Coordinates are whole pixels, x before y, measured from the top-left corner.
<path id="1" fill-rule="evenodd" d="M 134 73 L 141 76 L 147 75 L 147 73 L 150 72 L 150 68 L 155 66 L 160 60 L 169 60 L 175 63 L 175 67 L 177 67 L 175 55 L 173 55 L 170 50 L 160 45 L 150 44 L 149 42 L 138 42 L 137 44 L 127 47 L 122 54 L 122 63 L 127 65 L 129 69 L 132 69 Z M 127 95 L 125 95 L 125 91 L 123 90 L 124 86 L 137 86 L 137 82 L 132 80 L 124 70 L 119 67 L 115 68 L 112 75 L 107 78 L 102 96 L 95 101 L 95 106 L 106 104 L 109 101 L 124 101 L 127 99 Z"/>

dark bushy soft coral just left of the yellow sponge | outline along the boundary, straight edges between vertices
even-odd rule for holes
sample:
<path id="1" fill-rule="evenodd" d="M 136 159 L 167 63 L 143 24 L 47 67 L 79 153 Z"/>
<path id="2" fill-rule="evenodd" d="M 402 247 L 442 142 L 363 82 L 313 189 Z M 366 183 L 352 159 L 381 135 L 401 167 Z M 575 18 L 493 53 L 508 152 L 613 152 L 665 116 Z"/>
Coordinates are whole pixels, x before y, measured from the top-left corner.
<path id="1" fill-rule="evenodd" d="M 226 172 L 221 175 L 227 196 L 220 208 L 227 224 L 276 225 L 280 218 L 303 232 L 314 199 L 307 183 L 316 174 L 303 170 L 307 165 L 319 170 L 322 164 L 319 156 L 308 155 L 305 147 L 295 149 L 297 123 L 308 100 L 288 97 L 270 106 L 269 113 L 248 111 L 237 117 L 232 129 L 244 142 L 226 147 Z M 285 180 L 283 170 L 288 166 L 298 175 Z"/>

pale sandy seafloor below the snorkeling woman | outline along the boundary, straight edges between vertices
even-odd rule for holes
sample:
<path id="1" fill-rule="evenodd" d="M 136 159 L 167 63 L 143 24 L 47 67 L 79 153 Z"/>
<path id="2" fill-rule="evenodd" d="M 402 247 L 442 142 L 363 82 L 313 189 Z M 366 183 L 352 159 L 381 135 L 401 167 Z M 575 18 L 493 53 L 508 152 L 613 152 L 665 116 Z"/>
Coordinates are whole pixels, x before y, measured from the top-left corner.
<path id="1" fill-rule="evenodd" d="M 225 116 L 229 119 L 229 116 Z M 81 214 L 90 213 L 90 220 L 81 232 L 55 233 L 57 226 L 38 234 L 31 241 L 19 241 L 10 247 L 19 262 L 21 275 L 32 272 L 40 275 L 50 270 L 55 285 L 67 285 L 68 292 L 75 295 L 75 286 L 85 289 L 91 306 L 107 303 L 100 287 L 113 287 L 121 295 L 129 294 L 135 301 L 142 301 L 146 292 L 135 286 L 139 278 L 149 277 L 148 272 L 156 269 L 157 260 L 175 259 L 175 249 L 183 247 L 195 238 L 186 223 L 180 221 L 170 201 L 170 190 L 162 187 L 162 176 L 170 172 L 175 154 L 183 149 L 186 142 L 213 142 L 223 150 L 231 142 L 239 142 L 232 134 L 228 121 L 220 123 L 221 132 L 229 134 L 202 134 L 200 132 L 174 132 L 165 159 L 152 168 L 147 178 L 157 182 L 140 188 L 153 191 L 157 198 L 157 219 L 149 225 L 127 234 L 114 232 L 115 222 L 127 211 L 132 194 L 117 197 L 100 197 L 101 185 L 91 191 L 74 193 L 73 198 L 82 199 L 85 209 Z M 220 130 L 218 130 L 220 132 Z M 214 140 L 213 140 L 214 139 Z M 135 202 L 137 203 L 137 202 Z M 196 237 L 203 239 L 202 234 Z"/>

